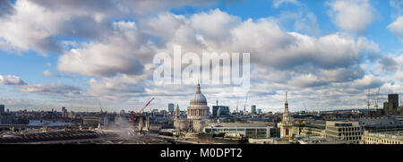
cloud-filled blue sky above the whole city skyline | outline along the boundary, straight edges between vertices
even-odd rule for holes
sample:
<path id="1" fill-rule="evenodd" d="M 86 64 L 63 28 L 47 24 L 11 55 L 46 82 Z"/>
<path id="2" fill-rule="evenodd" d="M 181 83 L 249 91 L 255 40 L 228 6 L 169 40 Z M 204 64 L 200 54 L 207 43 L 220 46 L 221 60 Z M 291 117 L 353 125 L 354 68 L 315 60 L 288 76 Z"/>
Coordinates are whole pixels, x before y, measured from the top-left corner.
<path id="1" fill-rule="evenodd" d="M 263 111 L 282 111 L 285 91 L 291 111 L 362 108 L 368 87 L 380 87 L 382 99 L 402 92 L 400 0 L 4 0 L 0 8 L 0 104 L 13 109 L 98 111 L 100 100 L 119 111 L 151 96 L 151 108 L 185 109 L 194 86 L 158 86 L 151 77 L 152 55 L 173 44 L 250 50 L 247 107 Z M 241 34 L 256 42 L 236 40 Z M 223 87 L 203 85 L 209 104 L 234 109 L 238 97 Z"/>

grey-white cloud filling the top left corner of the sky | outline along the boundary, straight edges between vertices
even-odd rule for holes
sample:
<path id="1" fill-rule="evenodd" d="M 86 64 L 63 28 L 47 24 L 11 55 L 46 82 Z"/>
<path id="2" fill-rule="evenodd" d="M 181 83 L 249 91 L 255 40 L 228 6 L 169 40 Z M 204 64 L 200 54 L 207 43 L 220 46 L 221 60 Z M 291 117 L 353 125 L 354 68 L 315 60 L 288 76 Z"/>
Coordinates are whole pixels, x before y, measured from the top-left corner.
<path id="1" fill-rule="evenodd" d="M 13 14 L 0 18 L 0 47 L 14 53 L 29 50 L 41 55 L 61 53 L 62 48 L 56 37 L 93 38 L 108 28 L 102 22 L 107 13 L 99 13 L 104 11 L 84 10 L 81 7 L 47 8 L 41 3 L 18 0 L 13 4 Z"/>

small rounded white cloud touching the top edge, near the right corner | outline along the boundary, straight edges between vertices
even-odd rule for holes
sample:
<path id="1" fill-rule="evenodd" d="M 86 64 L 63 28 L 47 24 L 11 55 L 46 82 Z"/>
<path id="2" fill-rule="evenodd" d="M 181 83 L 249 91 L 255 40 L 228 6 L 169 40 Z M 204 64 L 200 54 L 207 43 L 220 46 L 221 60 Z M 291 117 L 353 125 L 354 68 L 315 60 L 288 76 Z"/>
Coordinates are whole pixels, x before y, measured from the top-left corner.
<path id="1" fill-rule="evenodd" d="M 330 17 L 343 30 L 363 34 L 373 22 L 373 7 L 368 0 L 332 0 Z"/>

